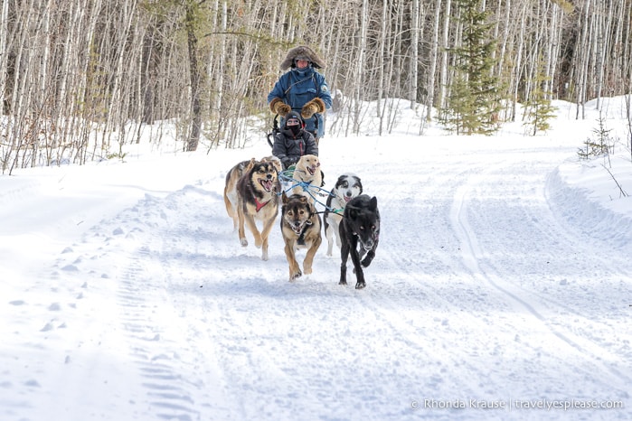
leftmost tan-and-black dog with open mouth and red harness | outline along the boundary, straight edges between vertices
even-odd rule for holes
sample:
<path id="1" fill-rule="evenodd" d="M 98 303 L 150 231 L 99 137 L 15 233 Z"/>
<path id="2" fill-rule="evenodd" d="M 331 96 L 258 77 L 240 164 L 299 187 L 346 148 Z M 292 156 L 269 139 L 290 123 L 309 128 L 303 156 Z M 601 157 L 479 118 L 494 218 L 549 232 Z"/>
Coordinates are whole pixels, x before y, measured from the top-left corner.
<path id="1" fill-rule="evenodd" d="M 261 259 L 268 260 L 268 237 L 278 214 L 277 192 L 280 192 L 278 167 L 275 162 L 268 160 L 254 161 L 253 159 L 245 163 L 247 164 L 236 165 L 239 167 L 243 164 L 241 170 L 239 168 L 236 170 L 243 174 L 234 186 L 234 192 L 231 173 L 226 176 L 226 187 L 224 188 L 226 211 L 232 217 L 233 223 L 234 214 L 237 214 L 237 228 L 241 246 L 248 246 L 244 229 L 245 222 L 255 239 L 255 246 L 261 248 Z M 231 196 L 236 196 L 237 203 L 234 205 Z M 257 228 L 256 220 L 263 222 L 261 232 Z"/>

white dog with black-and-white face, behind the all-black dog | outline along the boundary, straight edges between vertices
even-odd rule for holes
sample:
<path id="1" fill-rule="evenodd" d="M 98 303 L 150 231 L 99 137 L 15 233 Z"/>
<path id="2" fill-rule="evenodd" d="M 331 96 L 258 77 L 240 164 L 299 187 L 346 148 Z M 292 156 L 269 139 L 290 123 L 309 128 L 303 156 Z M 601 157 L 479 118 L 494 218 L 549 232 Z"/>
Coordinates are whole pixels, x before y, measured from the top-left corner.
<path id="1" fill-rule="evenodd" d="M 327 256 L 332 256 L 332 249 L 335 244 L 341 248 L 340 233 L 338 227 L 343 220 L 343 212 L 346 204 L 358 197 L 363 192 L 360 177 L 354 173 L 344 173 L 338 177 L 335 186 L 327 197 L 324 214 L 325 237 L 327 239 Z"/>

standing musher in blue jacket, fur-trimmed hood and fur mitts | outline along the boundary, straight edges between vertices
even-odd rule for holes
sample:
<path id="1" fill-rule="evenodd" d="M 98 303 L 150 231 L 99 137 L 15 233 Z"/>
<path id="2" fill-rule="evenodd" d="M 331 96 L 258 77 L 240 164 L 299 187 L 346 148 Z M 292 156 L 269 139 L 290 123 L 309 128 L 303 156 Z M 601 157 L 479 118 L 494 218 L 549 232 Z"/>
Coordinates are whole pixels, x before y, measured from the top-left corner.
<path id="1" fill-rule="evenodd" d="M 282 74 L 268 95 L 270 111 L 281 117 L 281 124 L 290 111 L 303 117 L 306 130 L 315 137 L 316 145 L 325 136 L 323 113 L 332 106 L 332 98 L 325 76 L 316 71 L 325 67 L 315 51 L 305 45 L 288 51 L 281 62 Z"/>

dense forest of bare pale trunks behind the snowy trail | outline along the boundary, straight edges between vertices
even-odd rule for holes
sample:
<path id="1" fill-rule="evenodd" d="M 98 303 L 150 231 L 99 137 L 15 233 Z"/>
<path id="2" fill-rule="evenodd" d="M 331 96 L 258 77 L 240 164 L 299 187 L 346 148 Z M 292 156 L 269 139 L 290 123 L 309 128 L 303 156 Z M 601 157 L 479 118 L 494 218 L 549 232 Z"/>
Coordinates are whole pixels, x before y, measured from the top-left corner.
<path id="1" fill-rule="evenodd" d="M 2 173 L 107 158 L 144 130 L 159 143 L 175 128 L 188 151 L 241 147 L 253 126 L 260 136 L 269 129 L 279 63 L 301 44 L 325 58 L 335 96 L 327 130 L 345 136 L 359 133 L 364 101 L 377 105 L 380 133 L 403 100 L 422 121 L 471 134 L 514 120 L 517 103 L 542 119 L 564 99 L 583 118 L 587 100 L 599 107 L 632 87 L 632 0 L 0 5 Z M 483 106 L 467 108 L 471 95 Z M 338 124 L 339 113 L 351 118 Z M 464 126 L 464 114 L 481 119 Z"/>

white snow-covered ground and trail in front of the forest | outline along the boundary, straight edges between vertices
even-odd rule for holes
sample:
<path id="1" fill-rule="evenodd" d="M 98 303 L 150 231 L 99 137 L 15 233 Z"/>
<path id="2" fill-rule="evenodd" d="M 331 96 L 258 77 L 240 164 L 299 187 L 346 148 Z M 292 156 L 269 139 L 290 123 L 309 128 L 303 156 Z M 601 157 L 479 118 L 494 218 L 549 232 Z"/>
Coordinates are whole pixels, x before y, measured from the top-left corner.
<path id="1" fill-rule="evenodd" d="M 545 136 L 417 136 L 402 111 L 325 137 L 325 188 L 354 172 L 378 198 L 363 290 L 326 244 L 288 282 L 278 227 L 269 261 L 241 247 L 224 177 L 263 138 L 0 176 L 0 419 L 629 419 L 621 98 L 609 162 L 577 157 L 594 107 L 556 105 Z"/>

